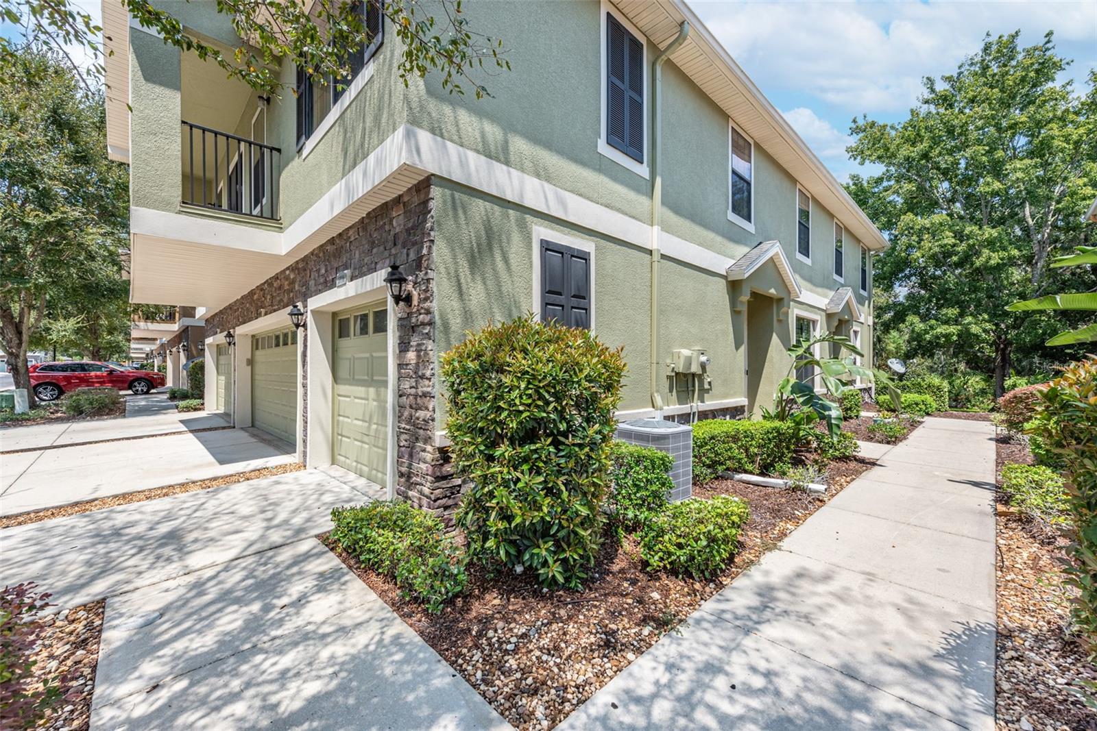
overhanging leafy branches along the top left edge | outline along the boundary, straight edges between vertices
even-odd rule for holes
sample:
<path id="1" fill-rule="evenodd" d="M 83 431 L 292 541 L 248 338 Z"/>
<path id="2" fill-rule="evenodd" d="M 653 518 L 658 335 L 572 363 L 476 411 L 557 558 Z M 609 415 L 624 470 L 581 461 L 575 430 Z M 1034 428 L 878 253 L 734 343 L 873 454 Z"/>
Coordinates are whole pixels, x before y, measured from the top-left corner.
<path id="1" fill-rule="evenodd" d="M 169 11 L 149 0 L 116 0 L 142 26 L 156 31 L 166 43 L 200 58 L 210 59 L 225 72 L 268 94 L 279 94 L 278 65 L 290 60 L 308 69 L 320 83 L 329 79 L 339 84 L 351 78 L 349 50 L 366 45 L 370 31 L 362 18 L 362 0 L 217 0 L 217 12 L 231 19 L 241 38 L 231 53 L 207 43 L 201 35 L 183 27 Z M 509 69 L 506 50 L 498 38 L 473 32 L 462 8 L 462 0 L 370 0 L 381 5 L 403 42 L 398 73 L 408 83 L 430 70 L 442 73 L 442 88 L 464 94 L 472 88 L 476 99 L 490 95 L 473 78 L 488 68 Z M 29 38 L 48 42 L 58 48 L 84 46 L 99 54 L 102 27 L 76 5 L 73 0 L 0 0 L 0 19 L 23 25 Z M 0 57 L 13 53 L 10 42 L 0 37 Z M 77 64 L 68 58 L 73 69 Z M 88 72 L 102 75 L 102 65 Z"/>

